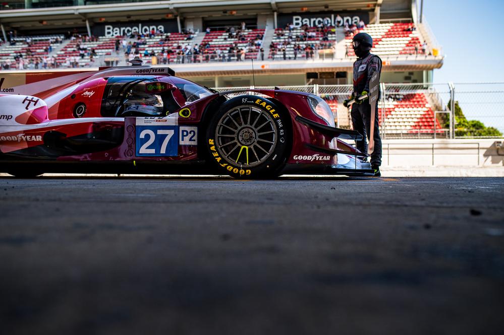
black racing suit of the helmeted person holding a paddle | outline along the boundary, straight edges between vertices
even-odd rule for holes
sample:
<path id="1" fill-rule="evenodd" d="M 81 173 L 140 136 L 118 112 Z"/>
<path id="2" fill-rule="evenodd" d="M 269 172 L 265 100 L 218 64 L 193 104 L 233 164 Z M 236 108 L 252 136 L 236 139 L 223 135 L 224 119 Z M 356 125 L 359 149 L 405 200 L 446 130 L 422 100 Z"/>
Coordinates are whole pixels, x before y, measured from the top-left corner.
<path id="1" fill-rule="evenodd" d="M 371 76 L 376 71 L 381 73 L 381 59 L 377 55 L 368 54 L 363 58 L 357 58 L 354 62 L 354 97 L 361 95 L 366 91 L 369 94 L 369 81 Z M 379 167 L 381 165 L 381 138 L 380 129 L 378 126 L 378 101 L 376 100 L 376 109 L 374 114 L 374 151 L 371 154 L 371 166 Z M 357 141 L 357 149 L 367 154 L 366 138 L 369 139 L 371 127 L 371 105 L 369 99 L 364 100 L 360 105 L 353 104 L 352 111 L 352 125 L 354 130 L 359 131 L 363 135 L 362 141 Z"/>

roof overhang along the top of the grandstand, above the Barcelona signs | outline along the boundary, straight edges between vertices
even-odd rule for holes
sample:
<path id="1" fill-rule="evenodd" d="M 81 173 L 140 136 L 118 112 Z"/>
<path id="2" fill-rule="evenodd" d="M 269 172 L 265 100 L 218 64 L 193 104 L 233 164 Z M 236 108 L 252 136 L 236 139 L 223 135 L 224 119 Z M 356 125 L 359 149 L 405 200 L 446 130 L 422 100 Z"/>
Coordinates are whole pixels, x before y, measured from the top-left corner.
<path id="1" fill-rule="evenodd" d="M 0 12 L 0 22 L 4 26 L 19 30 L 37 28 L 63 28 L 90 24 L 131 20 L 164 19 L 167 14 L 181 17 L 226 17 L 240 18 L 257 14 L 299 13 L 301 8 L 310 12 L 323 11 L 371 11 L 381 6 L 383 0 L 170 0 L 128 3 L 119 2 L 106 5 L 88 5 L 72 7 L 32 8 L 22 10 L 4 10 Z M 397 7 L 411 8 L 411 0 L 385 0 Z M 231 15 L 229 11 L 236 11 Z M 22 20 L 21 20 L 22 19 Z"/>

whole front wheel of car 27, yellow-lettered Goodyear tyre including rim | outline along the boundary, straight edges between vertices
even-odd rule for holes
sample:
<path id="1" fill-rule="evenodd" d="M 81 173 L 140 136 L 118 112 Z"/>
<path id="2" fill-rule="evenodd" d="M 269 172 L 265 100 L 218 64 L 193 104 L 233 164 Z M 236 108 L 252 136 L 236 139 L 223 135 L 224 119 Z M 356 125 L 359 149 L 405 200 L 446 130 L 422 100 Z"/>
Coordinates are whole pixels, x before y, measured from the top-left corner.
<path id="1" fill-rule="evenodd" d="M 209 160 L 236 178 L 274 178 L 284 167 L 292 141 L 290 116 L 258 96 L 223 103 L 206 130 Z"/>

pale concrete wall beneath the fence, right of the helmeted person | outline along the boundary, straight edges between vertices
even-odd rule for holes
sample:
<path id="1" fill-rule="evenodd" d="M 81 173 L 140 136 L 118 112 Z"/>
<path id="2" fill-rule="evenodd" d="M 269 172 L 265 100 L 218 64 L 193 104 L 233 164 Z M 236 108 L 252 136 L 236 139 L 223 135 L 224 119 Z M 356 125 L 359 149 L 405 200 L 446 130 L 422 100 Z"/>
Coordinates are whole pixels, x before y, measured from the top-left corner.
<path id="1" fill-rule="evenodd" d="M 504 166 L 504 139 L 383 140 L 383 166 Z"/>

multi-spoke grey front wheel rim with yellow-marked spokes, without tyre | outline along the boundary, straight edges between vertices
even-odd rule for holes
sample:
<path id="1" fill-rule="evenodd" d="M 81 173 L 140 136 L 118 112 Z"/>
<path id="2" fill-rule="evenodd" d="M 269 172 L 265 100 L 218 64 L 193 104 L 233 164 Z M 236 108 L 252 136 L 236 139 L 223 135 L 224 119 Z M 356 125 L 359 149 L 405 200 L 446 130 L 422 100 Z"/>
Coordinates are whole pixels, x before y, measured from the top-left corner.
<path id="1" fill-rule="evenodd" d="M 222 115 L 217 123 L 216 147 L 227 161 L 253 167 L 273 153 L 276 132 L 269 113 L 253 106 L 238 106 Z"/>

